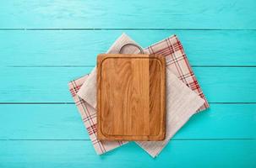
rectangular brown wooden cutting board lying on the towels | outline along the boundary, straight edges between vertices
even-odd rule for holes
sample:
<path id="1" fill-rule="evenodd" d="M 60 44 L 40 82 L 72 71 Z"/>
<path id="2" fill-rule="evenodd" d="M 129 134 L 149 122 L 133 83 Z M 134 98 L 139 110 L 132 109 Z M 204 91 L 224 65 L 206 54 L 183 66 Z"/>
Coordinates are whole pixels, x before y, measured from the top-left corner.
<path id="1" fill-rule="evenodd" d="M 98 55 L 98 139 L 163 140 L 165 113 L 165 57 Z"/>

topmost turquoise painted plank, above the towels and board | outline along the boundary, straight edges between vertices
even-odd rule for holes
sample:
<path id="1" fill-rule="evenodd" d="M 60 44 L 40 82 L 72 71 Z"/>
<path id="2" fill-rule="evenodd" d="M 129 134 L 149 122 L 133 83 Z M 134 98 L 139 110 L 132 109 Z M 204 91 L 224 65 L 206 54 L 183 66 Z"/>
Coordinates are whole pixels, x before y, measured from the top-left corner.
<path id="1" fill-rule="evenodd" d="M 254 0 L 6 1 L 0 28 L 255 29 Z"/>

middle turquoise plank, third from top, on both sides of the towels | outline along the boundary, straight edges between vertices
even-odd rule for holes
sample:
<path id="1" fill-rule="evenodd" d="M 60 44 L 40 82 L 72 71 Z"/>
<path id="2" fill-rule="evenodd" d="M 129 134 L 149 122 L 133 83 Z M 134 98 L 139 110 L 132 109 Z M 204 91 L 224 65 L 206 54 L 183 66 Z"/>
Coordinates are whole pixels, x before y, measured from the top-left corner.
<path id="1" fill-rule="evenodd" d="M 93 67 L 0 68 L 0 102 L 73 102 L 68 81 Z M 193 67 L 209 102 L 256 102 L 256 68 Z"/>

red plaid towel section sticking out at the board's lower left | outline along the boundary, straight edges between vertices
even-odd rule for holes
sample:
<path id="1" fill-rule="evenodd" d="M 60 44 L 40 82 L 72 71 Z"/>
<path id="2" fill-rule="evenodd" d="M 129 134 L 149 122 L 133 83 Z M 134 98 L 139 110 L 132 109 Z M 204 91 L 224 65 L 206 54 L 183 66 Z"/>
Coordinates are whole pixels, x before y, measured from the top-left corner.
<path id="1" fill-rule="evenodd" d="M 104 154 L 109 150 L 113 150 L 123 144 L 126 144 L 125 141 L 99 141 L 97 139 L 97 119 L 96 119 L 96 111 L 95 108 L 90 107 L 89 104 L 84 102 L 83 99 L 77 96 L 77 92 L 79 92 L 79 88 L 83 85 L 84 81 L 88 75 L 80 77 L 77 80 L 70 81 L 68 83 L 69 92 L 74 98 L 74 102 L 79 109 L 79 113 L 84 122 L 84 126 L 88 131 L 90 140 L 95 148 L 95 151 L 98 155 Z"/>

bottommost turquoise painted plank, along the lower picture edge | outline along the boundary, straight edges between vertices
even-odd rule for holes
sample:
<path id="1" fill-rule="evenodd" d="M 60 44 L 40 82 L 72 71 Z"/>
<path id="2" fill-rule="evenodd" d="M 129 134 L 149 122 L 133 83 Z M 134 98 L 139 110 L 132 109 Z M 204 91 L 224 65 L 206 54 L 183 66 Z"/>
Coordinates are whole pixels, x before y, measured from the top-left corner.
<path id="1" fill-rule="evenodd" d="M 96 155 L 89 141 L 0 141 L 1 167 L 255 167 L 256 140 L 174 140 L 156 159 L 137 144 Z M 139 156 L 139 157 L 138 157 Z"/>

